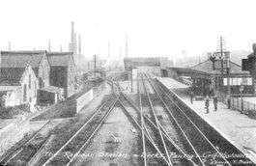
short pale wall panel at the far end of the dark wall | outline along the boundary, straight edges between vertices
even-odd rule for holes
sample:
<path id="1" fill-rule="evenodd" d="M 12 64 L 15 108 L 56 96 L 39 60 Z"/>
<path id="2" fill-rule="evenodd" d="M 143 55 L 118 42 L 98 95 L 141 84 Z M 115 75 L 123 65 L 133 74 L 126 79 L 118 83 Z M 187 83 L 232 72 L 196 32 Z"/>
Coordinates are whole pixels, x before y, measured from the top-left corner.
<path id="1" fill-rule="evenodd" d="M 94 98 L 94 92 L 93 89 L 89 90 L 87 93 L 82 95 L 81 97 L 78 97 L 75 100 L 75 110 L 76 113 L 78 113 L 86 104 L 89 103 Z"/>

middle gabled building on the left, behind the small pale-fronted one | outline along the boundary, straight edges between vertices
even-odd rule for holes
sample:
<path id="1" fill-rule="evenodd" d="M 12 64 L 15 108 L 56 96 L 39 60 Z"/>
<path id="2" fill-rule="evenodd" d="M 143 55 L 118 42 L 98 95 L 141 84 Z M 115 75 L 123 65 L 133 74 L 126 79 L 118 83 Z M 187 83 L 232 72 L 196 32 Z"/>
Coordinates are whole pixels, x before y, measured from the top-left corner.
<path id="1" fill-rule="evenodd" d="M 46 51 L 1 51 L 1 69 L 12 77 L 10 68 L 24 68 L 29 64 L 39 80 L 39 88 L 49 86 L 49 63 Z"/>

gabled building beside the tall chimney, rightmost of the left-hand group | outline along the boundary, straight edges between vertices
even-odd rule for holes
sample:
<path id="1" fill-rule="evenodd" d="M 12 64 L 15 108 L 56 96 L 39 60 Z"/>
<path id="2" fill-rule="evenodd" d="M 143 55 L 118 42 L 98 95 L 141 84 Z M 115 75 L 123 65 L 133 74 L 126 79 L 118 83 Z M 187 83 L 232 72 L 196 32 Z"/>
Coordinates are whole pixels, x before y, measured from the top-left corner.
<path id="1" fill-rule="evenodd" d="M 64 96 L 71 97 L 75 93 L 76 68 L 71 52 L 47 52 L 49 66 L 49 82 L 51 86 L 64 89 Z"/>

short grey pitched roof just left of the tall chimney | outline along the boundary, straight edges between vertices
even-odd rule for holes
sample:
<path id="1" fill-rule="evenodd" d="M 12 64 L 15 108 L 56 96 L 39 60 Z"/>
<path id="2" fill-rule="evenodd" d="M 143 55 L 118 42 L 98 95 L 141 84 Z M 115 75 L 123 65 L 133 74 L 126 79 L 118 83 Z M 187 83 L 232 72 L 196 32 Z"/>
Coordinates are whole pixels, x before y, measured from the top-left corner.
<path id="1" fill-rule="evenodd" d="M 68 67 L 73 62 L 72 52 L 47 52 L 50 66 Z"/>

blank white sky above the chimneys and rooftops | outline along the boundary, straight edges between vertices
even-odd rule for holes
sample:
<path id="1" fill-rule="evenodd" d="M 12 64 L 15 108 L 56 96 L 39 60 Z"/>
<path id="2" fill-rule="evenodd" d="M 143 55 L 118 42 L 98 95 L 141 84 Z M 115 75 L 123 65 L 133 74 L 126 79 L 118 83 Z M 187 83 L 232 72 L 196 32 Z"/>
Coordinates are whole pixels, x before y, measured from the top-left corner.
<path id="1" fill-rule="evenodd" d="M 0 49 L 68 51 L 71 21 L 86 57 L 198 56 L 216 49 L 251 50 L 254 0 L 1 0 Z M 120 51 L 121 50 L 121 51 Z"/>

